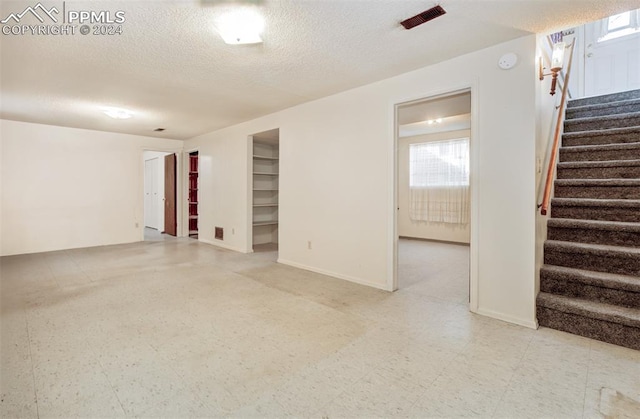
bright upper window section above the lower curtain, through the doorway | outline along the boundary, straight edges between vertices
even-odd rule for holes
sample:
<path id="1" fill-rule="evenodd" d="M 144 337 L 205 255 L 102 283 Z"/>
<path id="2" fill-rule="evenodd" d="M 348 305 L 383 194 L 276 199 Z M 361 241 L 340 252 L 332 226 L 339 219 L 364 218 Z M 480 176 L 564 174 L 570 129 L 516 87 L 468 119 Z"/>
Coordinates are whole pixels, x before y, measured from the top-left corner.
<path id="1" fill-rule="evenodd" d="M 409 187 L 469 186 L 469 139 L 411 144 Z"/>

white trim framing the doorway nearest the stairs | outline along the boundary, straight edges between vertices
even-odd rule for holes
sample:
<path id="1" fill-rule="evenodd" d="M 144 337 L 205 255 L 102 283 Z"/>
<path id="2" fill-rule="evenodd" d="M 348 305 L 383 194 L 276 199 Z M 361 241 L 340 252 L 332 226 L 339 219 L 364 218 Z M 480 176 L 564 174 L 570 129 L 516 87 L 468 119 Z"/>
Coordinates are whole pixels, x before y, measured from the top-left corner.
<path id="1" fill-rule="evenodd" d="M 392 116 L 390 124 L 392 132 L 389 135 L 389 179 L 391 188 L 389 202 L 392 206 L 389 211 L 389 237 L 388 237 L 388 266 L 387 289 L 398 289 L 398 108 L 414 102 L 429 101 L 431 99 L 450 96 L 456 93 L 469 92 L 471 94 L 471 142 L 469 155 L 469 185 L 471 187 L 471 228 L 469 243 L 469 310 L 478 311 L 478 283 L 479 283 L 479 174 L 480 174 L 480 147 L 481 139 L 478 132 L 478 87 L 477 81 L 464 83 L 457 86 L 449 86 L 443 89 L 435 89 L 411 97 L 394 100 L 389 106 L 389 114 Z"/>

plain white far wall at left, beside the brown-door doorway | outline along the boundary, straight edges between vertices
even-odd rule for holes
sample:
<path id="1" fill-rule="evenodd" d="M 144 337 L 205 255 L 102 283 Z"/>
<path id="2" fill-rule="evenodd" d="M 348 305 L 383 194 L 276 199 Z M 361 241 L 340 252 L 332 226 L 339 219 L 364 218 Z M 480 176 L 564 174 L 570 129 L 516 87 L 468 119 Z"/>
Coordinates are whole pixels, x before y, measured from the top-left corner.
<path id="1" fill-rule="evenodd" d="M 0 121 L 1 254 L 139 241 L 143 149 L 182 141 Z"/>

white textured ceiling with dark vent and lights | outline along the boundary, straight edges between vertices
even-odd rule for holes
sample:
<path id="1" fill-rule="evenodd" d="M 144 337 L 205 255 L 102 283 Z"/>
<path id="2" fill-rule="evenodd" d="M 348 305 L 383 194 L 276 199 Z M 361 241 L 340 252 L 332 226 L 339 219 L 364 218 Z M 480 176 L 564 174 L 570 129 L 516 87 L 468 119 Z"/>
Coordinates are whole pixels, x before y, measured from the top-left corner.
<path id="1" fill-rule="evenodd" d="M 41 1 L 62 9 L 62 1 Z M 230 46 L 213 28 L 219 6 L 211 2 L 67 1 L 68 9 L 123 10 L 123 34 L 0 35 L 0 117 L 187 139 L 638 7 L 638 0 L 442 0 L 446 15 L 407 31 L 398 22 L 435 1 L 263 0 L 264 44 Z M 0 19 L 36 3 L 2 1 Z M 103 106 L 135 117 L 110 119 Z M 166 131 L 153 132 L 158 127 Z"/>

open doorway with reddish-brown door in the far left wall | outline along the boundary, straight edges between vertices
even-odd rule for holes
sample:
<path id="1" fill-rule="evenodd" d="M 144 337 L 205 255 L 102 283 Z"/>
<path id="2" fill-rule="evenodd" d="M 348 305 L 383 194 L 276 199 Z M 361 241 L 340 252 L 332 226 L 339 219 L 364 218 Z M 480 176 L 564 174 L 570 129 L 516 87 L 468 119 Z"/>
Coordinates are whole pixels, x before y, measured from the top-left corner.
<path id="1" fill-rule="evenodd" d="M 177 235 L 176 155 L 166 151 L 143 151 L 145 241 Z"/>

